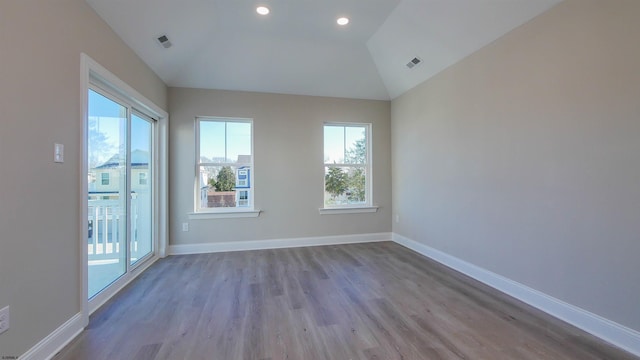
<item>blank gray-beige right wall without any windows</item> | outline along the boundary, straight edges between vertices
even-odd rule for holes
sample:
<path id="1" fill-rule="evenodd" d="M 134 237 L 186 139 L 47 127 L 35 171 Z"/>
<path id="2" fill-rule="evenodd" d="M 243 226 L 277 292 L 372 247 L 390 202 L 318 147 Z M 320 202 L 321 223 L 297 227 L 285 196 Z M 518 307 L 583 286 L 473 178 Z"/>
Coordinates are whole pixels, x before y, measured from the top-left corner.
<path id="1" fill-rule="evenodd" d="M 393 231 L 640 330 L 639 18 L 567 0 L 395 99 Z"/>

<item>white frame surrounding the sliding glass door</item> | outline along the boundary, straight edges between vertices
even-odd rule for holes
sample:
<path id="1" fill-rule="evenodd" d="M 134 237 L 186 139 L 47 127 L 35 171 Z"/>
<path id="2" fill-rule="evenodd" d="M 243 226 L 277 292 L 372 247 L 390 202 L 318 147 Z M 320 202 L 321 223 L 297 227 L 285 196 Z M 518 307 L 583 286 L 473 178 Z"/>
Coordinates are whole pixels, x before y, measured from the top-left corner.
<path id="1" fill-rule="evenodd" d="M 89 324 L 89 315 L 103 305 L 109 298 L 122 289 L 126 284 L 133 280 L 136 276 L 150 266 L 155 260 L 165 257 L 167 254 L 167 234 L 168 234 L 168 121 L 169 116 L 166 111 L 155 105 L 152 101 L 144 97 L 135 89 L 127 85 L 124 81 L 113 75 L 107 69 L 102 67 L 96 61 L 86 54 L 80 56 L 80 99 L 81 99 L 81 151 L 80 157 L 80 304 L 82 326 Z M 87 201 L 88 201 L 88 184 L 87 184 L 87 145 L 88 145 L 88 92 L 90 89 L 98 88 L 102 92 L 107 92 L 110 96 L 122 99 L 129 104 L 132 112 L 141 113 L 155 120 L 154 143 L 155 148 L 152 154 L 152 163 L 156 169 L 153 171 L 152 184 L 153 192 L 153 243 L 154 251 L 141 261 L 131 266 L 129 255 L 127 256 L 127 272 L 116 280 L 108 291 L 96 295 L 91 301 L 88 300 L 88 248 L 86 235 L 88 233 L 87 223 Z M 129 117 L 131 114 L 128 115 Z M 129 141 L 129 140 L 127 140 Z M 127 230 L 129 232 L 129 230 Z M 128 247 L 128 241 L 127 241 Z M 129 253 L 129 249 L 125 249 Z"/>

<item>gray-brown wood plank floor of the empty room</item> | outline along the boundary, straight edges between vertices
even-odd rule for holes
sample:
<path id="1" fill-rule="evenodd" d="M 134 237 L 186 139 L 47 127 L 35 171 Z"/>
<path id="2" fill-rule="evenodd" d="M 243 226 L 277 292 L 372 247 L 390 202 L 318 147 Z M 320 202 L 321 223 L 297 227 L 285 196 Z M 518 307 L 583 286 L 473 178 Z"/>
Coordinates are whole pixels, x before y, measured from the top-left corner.
<path id="1" fill-rule="evenodd" d="M 171 256 L 65 359 L 636 359 L 400 245 Z"/>

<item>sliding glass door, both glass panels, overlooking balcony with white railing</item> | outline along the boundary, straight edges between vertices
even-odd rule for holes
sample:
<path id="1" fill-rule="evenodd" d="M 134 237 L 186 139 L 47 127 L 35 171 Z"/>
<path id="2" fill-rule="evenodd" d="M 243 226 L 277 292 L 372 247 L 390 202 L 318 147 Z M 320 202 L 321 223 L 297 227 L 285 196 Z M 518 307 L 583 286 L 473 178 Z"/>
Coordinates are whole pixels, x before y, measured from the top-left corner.
<path id="1" fill-rule="evenodd" d="M 91 299 L 154 251 L 154 121 L 99 89 L 87 120 Z"/>

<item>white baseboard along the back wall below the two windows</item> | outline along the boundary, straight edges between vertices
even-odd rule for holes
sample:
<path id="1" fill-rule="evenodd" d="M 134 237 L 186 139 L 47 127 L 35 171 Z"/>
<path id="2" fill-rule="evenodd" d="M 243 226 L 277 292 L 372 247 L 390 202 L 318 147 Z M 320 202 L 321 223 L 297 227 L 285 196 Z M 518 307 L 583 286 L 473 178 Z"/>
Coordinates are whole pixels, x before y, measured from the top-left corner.
<path id="1" fill-rule="evenodd" d="M 356 244 L 391 241 L 391 233 L 373 233 L 338 236 L 315 236 L 304 238 L 234 241 L 205 244 L 170 245 L 169 255 L 205 254 L 225 251 L 281 249 L 302 246 Z"/>

